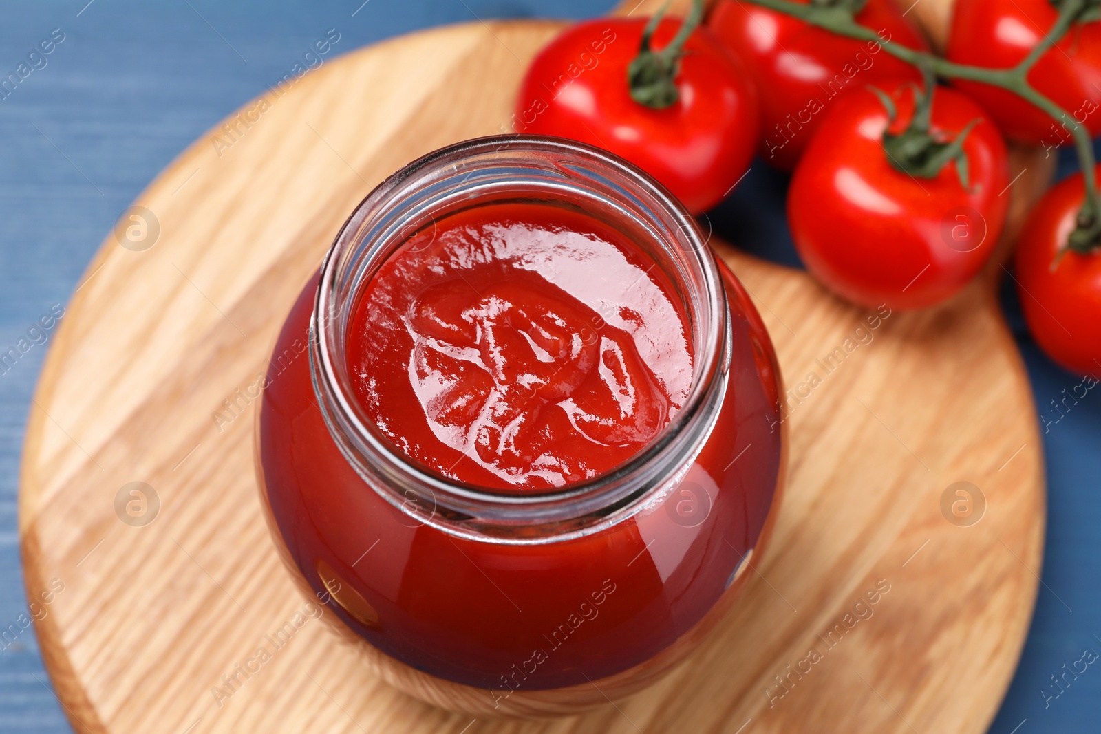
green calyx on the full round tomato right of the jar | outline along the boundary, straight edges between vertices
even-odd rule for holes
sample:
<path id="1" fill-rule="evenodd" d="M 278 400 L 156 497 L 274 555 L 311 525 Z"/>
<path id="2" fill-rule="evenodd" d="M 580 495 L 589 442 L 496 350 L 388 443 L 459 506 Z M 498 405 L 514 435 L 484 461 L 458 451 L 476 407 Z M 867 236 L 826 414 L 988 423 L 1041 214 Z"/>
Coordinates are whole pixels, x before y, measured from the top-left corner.
<path id="1" fill-rule="evenodd" d="M 963 141 L 968 133 L 981 120 L 975 118 L 968 122 L 956 136 L 948 141 L 929 132 L 933 119 L 933 96 L 936 91 L 936 79 L 926 74 L 926 89 L 917 85 L 914 88 L 914 116 L 909 124 L 901 133 L 891 132 L 898 113 L 894 100 L 882 89 L 869 87 L 880 98 L 887 111 L 887 129 L 883 131 L 883 150 L 887 160 L 896 171 L 919 178 L 936 178 L 949 162 L 956 162 L 956 174 L 964 189 L 970 189 L 970 175 L 967 154 L 963 152 Z"/>

